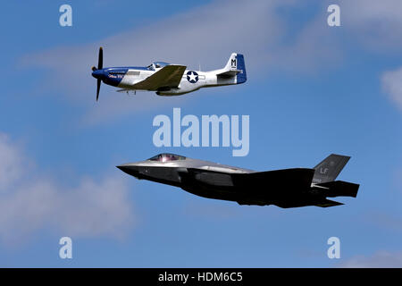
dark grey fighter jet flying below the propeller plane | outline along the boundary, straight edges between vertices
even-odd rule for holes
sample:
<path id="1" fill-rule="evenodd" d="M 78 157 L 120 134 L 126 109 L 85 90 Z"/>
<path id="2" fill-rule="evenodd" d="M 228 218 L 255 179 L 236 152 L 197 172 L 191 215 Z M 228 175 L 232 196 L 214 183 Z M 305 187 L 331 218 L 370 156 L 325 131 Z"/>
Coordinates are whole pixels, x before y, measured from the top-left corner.
<path id="1" fill-rule="evenodd" d="M 356 198 L 358 184 L 334 181 L 349 158 L 332 154 L 314 169 L 255 172 L 165 153 L 117 167 L 138 179 L 180 187 L 205 198 L 235 201 L 239 205 L 328 207 L 343 204 L 327 197 Z"/>

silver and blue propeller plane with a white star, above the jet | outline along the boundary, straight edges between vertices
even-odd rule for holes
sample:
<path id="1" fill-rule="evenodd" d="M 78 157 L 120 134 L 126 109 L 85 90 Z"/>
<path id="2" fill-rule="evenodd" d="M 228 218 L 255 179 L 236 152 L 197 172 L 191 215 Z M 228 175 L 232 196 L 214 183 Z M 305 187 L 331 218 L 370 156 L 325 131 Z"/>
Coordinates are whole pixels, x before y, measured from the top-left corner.
<path id="1" fill-rule="evenodd" d="M 246 82 L 244 56 L 233 53 L 228 63 L 219 70 L 192 71 L 187 66 L 164 62 L 151 63 L 148 66 L 124 66 L 104 68 L 104 52 L 99 48 L 97 68 L 92 67 L 92 76 L 96 78 L 96 100 L 99 97 L 101 82 L 121 88 L 117 91 L 136 90 L 155 91 L 159 96 L 179 96 L 199 88 L 211 88 Z"/>

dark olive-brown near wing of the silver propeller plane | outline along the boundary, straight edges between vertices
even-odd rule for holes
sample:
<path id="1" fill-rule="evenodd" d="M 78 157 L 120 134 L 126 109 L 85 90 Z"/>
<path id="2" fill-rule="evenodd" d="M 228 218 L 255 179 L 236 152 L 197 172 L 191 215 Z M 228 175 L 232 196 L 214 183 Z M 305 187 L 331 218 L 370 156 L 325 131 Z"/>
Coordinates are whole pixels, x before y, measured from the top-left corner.
<path id="1" fill-rule="evenodd" d="M 156 71 L 153 75 L 147 77 L 132 86 L 132 89 L 158 90 L 161 88 L 177 88 L 180 80 L 186 71 L 186 66 L 170 64 Z"/>

